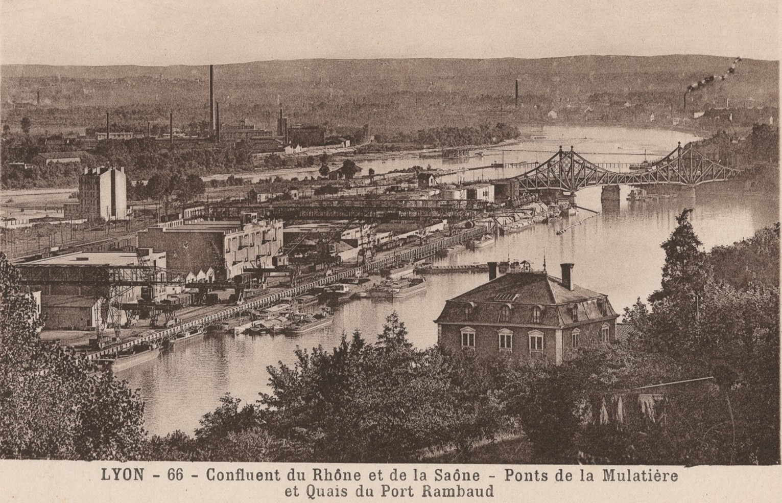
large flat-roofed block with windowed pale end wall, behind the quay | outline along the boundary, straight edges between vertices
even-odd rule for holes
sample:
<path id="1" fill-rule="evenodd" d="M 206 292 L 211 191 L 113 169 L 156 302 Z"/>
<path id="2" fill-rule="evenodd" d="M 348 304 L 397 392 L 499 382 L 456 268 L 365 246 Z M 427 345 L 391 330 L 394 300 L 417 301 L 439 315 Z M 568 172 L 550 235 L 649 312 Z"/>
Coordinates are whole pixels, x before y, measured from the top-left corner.
<path id="1" fill-rule="evenodd" d="M 251 268 L 273 268 L 282 250 L 282 220 L 243 213 L 227 221 L 175 220 L 138 232 L 138 246 L 167 252 L 168 268 L 183 274 L 212 268 L 217 279 L 232 279 Z"/>

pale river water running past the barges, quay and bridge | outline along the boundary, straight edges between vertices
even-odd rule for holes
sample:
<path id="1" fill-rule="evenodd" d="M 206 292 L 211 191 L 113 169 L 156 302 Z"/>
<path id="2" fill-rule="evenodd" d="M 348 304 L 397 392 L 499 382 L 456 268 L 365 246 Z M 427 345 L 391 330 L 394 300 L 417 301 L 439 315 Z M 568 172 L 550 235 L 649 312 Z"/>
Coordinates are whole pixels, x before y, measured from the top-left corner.
<path id="1" fill-rule="evenodd" d="M 647 149 L 650 155 L 664 155 L 676 146 L 676 142 L 685 143 L 692 138 L 672 131 L 620 128 L 540 128 L 538 131 L 543 131 L 540 135 L 545 138 L 538 140 L 536 146 L 547 146 L 553 153 L 561 141 L 563 148 L 569 149 L 572 144 L 577 151 L 602 153 L 585 155 L 595 162 L 637 161 L 637 156 L 615 156 L 615 150 L 643 153 Z M 622 149 L 617 148 L 620 146 Z M 529 147 L 525 142 L 523 146 L 504 148 L 535 149 Z M 514 162 L 534 160 L 524 159 L 522 154 L 534 153 L 519 153 Z M 495 155 L 501 156 L 501 153 Z M 505 155 L 506 161 L 511 162 L 507 157 L 510 154 Z M 539 160 L 546 158 L 538 157 Z M 581 210 L 574 217 L 500 237 L 493 245 L 477 251 L 453 254 L 441 263 L 484 263 L 510 257 L 529 260 L 533 267 L 542 268 L 545 257 L 548 270 L 558 276 L 561 262 L 573 262 L 576 264 L 574 281 L 608 294 L 612 306 L 621 313 L 639 296 L 645 300 L 659 287 L 664 260 L 660 243 L 675 228 L 676 215 L 683 208 L 694 208 L 691 221 L 707 250 L 748 237 L 756 229 L 777 221 L 779 214 L 777 200 L 690 194 L 629 202 L 625 199 L 629 190 L 622 187 L 618 208 L 602 211 L 601 189 L 584 189 L 576 194 L 576 203 L 601 211 L 596 217 Z M 556 230 L 579 221 L 583 223 L 556 235 Z M 255 401 L 257 393 L 268 390 L 267 365 L 278 365 L 278 361 L 292 363 L 296 347 L 311 348 L 321 344 L 331 348 L 339 343 L 343 332 L 350 334 L 354 329 L 361 329 L 364 336 L 374 339 L 382 330 L 386 316 L 393 311 L 399 313 L 407 325 L 409 338 L 416 346 L 431 346 L 437 338 L 432 320 L 445 301 L 487 280 L 484 275 L 430 275 L 428 288 L 423 293 L 396 300 L 362 299 L 343 304 L 336 309 L 334 324 L 317 332 L 298 338 L 210 336 L 203 342 L 163 354 L 159 360 L 119 372 L 118 376 L 127 379 L 132 387 L 140 388 L 146 402 L 146 427 L 151 433 L 165 434 L 174 429 L 192 433 L 199 426 L 201 416 L 217 407 L 222 394 L 231 392 L 242 400 Z"/>

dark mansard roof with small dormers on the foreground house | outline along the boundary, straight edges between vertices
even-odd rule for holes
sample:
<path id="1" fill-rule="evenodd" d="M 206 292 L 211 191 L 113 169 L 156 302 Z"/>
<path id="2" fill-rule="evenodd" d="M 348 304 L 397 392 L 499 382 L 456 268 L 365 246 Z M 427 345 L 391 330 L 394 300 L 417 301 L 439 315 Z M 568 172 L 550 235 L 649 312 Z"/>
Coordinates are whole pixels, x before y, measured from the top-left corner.
<path id="1" fill-rule="evenodd" d="M 572 315 L 574 304 L 578 306 L 577 318 Z M 468 306 L 472 307 L 469 316 Z M 504 306 L 510 313 L 507 321 L 500 322 Z M 541 311 L 540 322 L 533 323 L 536 307 Z M 617 317 L 604 294 L 577 285 L 570 290 L 562 286 L 560 278 L 532 271 L 501 275 L 448 300 L 435 322 L 563 327 Z"/>

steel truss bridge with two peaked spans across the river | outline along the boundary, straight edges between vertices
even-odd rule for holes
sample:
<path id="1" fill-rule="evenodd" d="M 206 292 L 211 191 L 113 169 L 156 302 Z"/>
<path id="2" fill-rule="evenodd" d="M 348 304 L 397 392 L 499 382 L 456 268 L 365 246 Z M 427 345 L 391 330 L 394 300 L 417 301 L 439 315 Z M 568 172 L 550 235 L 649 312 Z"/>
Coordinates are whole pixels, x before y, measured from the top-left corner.
<path id="1" fill-rule="evenodd" d="M 643 171 L 609 171 L 573 151 L 559 152 L 533 169 L 514 177 L 520 190 L 559 189 L 577 192 L 606 185 L 684 185 L 694 187 L 712 181 L 726 181 L 741 173 L 726 167 L 695 149 L 679 146 Z"/>

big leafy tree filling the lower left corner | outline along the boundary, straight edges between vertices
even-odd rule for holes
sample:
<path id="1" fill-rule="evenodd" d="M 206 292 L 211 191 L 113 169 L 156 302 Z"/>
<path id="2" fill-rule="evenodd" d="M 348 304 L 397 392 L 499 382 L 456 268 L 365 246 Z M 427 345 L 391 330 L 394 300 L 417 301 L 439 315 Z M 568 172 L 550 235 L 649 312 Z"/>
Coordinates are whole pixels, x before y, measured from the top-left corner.
<path id="1" fill-rule="evenodd" d="M 33 298 L 0 253 L 0 458 L 140 458 L 138 393 L 74 350 L 41 340 Z"/>

